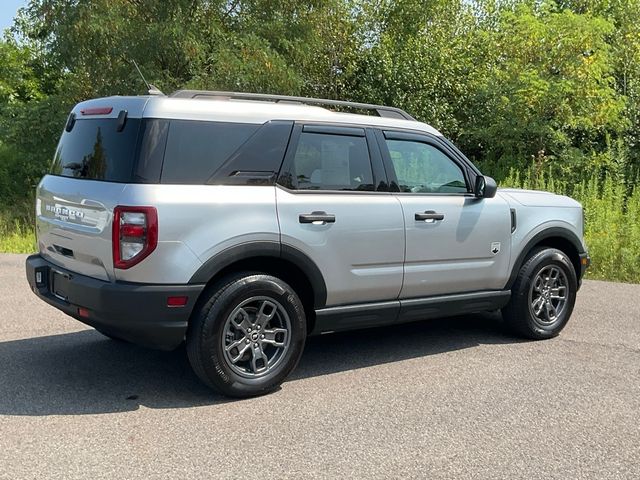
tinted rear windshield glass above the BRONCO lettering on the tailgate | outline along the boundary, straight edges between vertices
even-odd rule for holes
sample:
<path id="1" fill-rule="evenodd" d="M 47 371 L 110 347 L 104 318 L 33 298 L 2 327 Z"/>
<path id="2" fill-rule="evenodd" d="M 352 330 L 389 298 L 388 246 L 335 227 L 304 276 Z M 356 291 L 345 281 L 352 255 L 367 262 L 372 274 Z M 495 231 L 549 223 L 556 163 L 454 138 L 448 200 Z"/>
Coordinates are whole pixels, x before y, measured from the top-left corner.
<path id="1" fill-rule="evenodd" d="M 140 120 L 127 119 L 117 131 L 116 118 L 77 120 L 60 138 L 51 173 L 64 177 L 130 182 Z"/>

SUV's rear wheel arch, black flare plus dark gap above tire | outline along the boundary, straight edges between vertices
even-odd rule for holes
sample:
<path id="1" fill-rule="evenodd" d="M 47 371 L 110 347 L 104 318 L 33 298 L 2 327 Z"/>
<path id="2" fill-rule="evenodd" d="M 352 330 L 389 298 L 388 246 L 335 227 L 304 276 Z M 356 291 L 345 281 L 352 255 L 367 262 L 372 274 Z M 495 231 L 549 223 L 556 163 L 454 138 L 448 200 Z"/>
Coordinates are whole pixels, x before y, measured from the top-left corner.
<path id="1" fill-rule="evenodd" d="M 189 280 L 206 285 L 198 304 L 221 278 L 240 271 L 259 271 L 287 282 L 304 305 L 308 331 L 313 330 L 315 310 L 327 301 L 327 287 L 320 269 L 304 252 L 277 242 L 248 242 L 225 249 L 204 262 Z"/>

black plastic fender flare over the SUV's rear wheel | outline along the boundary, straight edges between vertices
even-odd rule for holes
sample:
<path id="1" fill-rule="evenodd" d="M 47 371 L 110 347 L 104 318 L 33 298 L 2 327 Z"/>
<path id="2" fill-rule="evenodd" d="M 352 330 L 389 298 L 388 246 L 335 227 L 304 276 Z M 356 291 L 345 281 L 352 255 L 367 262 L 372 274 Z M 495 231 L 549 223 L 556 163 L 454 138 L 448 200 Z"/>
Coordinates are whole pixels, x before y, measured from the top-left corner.
<path id="1" fill-rule="evenodd" d="M 279 258 L 292 263 L 302 271 L 311 284 L 314 308 L 323 308 L 326 305 L 327 285 L 316 263 L 301 250 L 279 242 L 252 241 L 222 250 L 204 262 L 189 279 L 189 283 L 206 284 L 229 265 L 252 257 Z"/>

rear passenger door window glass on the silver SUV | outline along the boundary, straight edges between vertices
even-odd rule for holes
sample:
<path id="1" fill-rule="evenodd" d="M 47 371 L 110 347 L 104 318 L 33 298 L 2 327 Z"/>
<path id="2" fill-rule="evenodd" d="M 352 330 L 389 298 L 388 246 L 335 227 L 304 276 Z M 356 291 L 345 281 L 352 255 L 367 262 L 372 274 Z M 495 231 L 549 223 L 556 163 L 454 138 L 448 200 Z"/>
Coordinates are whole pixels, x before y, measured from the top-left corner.
<path id="1" fill-rule="evenodd" d="M 302 132 L 291 176 L 298 190 L 374 190 L 365 137 Z"/>

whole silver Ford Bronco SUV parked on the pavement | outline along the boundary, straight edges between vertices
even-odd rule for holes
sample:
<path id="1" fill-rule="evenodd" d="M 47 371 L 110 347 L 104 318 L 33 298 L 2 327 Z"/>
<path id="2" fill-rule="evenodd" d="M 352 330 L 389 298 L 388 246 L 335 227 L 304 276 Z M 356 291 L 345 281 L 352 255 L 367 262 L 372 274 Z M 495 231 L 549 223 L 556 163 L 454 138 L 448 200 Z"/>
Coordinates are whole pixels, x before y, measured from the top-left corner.
<path id="1" fill-rule="evenodd" d="M 346 113 L 356 111 L 356 113 Z M 173 349 L 232 396 L 307 335 L 502 309 L 557 335 L 589 265 L 574 200 L 504 189 L 397 108 L 178 91 L 77 105 L 37 190 L 32 290 Z"/>

